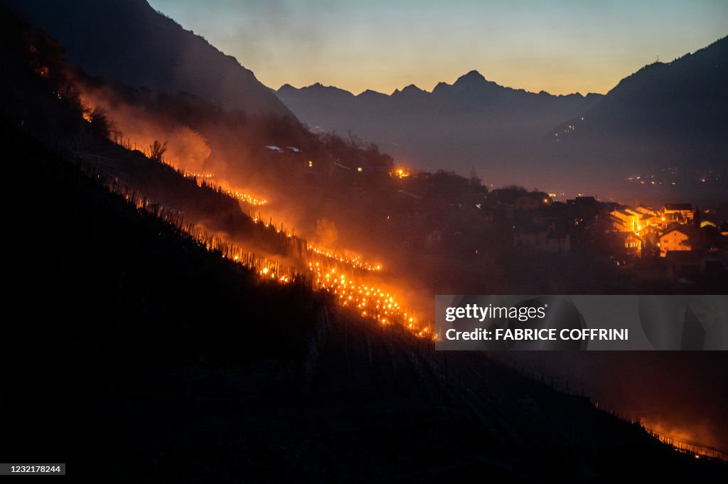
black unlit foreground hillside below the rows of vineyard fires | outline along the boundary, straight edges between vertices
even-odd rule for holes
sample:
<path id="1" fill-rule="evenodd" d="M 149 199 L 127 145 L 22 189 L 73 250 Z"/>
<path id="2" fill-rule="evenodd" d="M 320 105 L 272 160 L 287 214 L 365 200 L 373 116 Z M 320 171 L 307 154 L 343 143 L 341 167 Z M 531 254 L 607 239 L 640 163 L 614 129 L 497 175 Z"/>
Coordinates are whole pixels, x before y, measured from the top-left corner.
<path id="1" fill-rule="evenodd" d="M 305 285 L 261 285 L 3 127 L 0 455 L 95 482 L 711 482 L 727 468 Z"/>

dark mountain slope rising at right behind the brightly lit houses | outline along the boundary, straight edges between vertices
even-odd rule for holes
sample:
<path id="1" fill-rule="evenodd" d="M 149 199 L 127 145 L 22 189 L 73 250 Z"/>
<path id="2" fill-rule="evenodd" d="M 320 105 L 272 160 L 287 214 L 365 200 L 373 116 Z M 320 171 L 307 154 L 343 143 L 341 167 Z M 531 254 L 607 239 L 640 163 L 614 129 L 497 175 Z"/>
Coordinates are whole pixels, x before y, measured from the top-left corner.
<path id="1" fill-rule="evenodd" d="M 622 79 L 599 103 L 555 127 L 544 152 L 566 164 L 589 160 L 631 199 L 725 202 L 727 86 L 724 37 Z"/>

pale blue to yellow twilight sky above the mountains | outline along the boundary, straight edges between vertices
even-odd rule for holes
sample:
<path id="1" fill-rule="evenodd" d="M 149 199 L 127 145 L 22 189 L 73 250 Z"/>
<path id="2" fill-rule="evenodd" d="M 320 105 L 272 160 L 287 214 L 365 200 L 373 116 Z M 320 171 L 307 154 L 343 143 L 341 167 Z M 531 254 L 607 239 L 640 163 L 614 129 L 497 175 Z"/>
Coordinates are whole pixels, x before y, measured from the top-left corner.
<path id="1" fill-rule="evenodd" d="M 268 87 L 432 90 L 477 70 L 507 87 L 607 92 L 728 35 L 726 0 L 149 0 Z"/>

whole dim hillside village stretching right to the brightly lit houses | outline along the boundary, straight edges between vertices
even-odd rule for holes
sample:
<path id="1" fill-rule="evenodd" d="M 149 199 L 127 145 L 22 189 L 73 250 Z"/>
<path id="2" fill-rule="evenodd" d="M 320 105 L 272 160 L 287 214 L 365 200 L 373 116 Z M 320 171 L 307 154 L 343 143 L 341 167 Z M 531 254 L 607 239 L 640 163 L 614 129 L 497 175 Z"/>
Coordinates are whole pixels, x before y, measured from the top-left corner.
<path id="1" fill-rule="evenodd" d="M 504 264 L 540 260 L 553 269 L 551 278 L 560 268 L 578 266 L 577 259 L 589 259 L 601 271 L 593 278 L 643 291 L 718 289 L 728 274 L 725 205 L 624 205 L 583 195 L 560 199 L 561 194 L 539 189 L 495 188 L 475 173 L 467 178 L 414 170 L 387 156 L 362 159 L 342 152 L 337 159 L 312 159 L 298 148 L 266 148 L 274 155 L 269 166 L 304 175 L 298 183 L 302 191 L 323 188 L 338 201 L 340 216 L 327 216 L 344 237 L 347 227 L 356 231 L 349 220 L 365 221 L 366 231 L 346 238 L 377 234 L 387 241 L 379 251 L 397 258 L 429 254 L 430 261 L 467 261 L 473 270 L 488 258 Z"/>

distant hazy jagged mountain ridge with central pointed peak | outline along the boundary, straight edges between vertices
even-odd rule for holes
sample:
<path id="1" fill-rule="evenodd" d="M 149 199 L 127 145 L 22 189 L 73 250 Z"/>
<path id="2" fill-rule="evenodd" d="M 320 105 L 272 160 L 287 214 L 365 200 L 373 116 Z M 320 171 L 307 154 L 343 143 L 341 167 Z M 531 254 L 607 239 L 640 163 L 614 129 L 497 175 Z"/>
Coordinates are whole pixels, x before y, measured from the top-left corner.
<path id="1" fill-rule="evenodd" d="M 517 159 L 537 152 L 556 124 L 594 106 L 601 95 L 550 95 L 503 87 L 471 71 L 432 92 L 410 85 L 390 95 L 353 95 L 314 84 L 280 87 L 278 96 L 303 122 L 351 131 L 419 167 L 483 167 L 487 159 Z M 492 165 L 491 165 L 492 167 Z"/>

